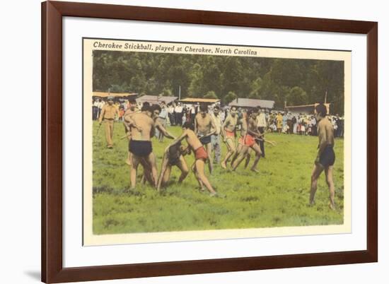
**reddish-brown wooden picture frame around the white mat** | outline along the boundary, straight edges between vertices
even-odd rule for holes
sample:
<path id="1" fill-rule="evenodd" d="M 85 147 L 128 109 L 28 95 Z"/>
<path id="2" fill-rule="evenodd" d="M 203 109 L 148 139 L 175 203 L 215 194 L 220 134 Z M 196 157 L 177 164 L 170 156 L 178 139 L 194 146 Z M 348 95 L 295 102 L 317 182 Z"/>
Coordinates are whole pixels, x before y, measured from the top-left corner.
<path id="1" fill-rule="evenodd" d="M 367 249 L 64 268 L 62 265 L 62 18 L 109 18 L 367 35 Z M 173 276 L 378 261 L 378 23 L 47 1 L 42 3 L 42 281 Z"/>

